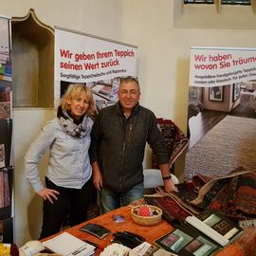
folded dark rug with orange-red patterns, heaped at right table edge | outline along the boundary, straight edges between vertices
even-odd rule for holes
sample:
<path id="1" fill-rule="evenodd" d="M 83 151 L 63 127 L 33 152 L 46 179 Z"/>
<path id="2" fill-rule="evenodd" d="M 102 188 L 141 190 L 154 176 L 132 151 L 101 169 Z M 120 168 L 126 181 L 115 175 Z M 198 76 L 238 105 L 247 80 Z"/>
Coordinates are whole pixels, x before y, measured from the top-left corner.
<path id="1" fill-rule="evenodd" d="M 256 174 L 234 170 L 210 179 L 191 201 L 194 207 L 217 210 L 234 220 L 256 217 Z"/>

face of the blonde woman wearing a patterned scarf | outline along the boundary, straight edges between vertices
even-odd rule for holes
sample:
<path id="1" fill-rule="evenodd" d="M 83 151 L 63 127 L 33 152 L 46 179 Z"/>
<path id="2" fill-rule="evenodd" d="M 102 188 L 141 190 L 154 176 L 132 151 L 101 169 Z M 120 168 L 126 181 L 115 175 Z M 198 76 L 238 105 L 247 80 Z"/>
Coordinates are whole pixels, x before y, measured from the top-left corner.
<path id="1" fill-rule="evenodd" d="M 80 119 L 89 107 L 89 101 L 87 101 L 85 92 L 82 92 L 78 98 L 68 100 L 67 102 L 70 104 L 71 115 L 74 119 Z"/>

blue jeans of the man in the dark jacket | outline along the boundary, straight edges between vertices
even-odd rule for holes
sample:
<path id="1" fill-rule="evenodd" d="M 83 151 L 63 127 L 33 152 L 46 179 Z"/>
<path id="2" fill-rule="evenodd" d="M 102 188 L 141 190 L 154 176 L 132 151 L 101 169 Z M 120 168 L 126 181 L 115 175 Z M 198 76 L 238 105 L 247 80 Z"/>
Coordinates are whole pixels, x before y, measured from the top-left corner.
<path id="1" fill-rule="evenodd" d="M 101 208 L 103 213 L 127 206 L 144 196 L 143 182 L 131 188 L 128 192 L 111 192 L 106 189 L 101 191 Z"/>

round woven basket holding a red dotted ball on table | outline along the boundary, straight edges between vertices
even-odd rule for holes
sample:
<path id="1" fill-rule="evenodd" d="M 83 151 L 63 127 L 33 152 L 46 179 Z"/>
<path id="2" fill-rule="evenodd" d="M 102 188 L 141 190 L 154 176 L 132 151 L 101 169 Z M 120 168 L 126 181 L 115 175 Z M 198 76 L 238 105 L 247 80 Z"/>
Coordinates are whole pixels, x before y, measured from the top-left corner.
<path id="1" fill-rule="evenodd" d="M 153 215 L 151 216 L 140 216 L 137 214 L 139 209 L 141 207 L 148 207 L 153 211 Z M 161 221 L 162 218 L 162 210 L 158 207 L 152 206 L 152 205 L 138 205 L 136 207 L 133 207 L 131 210 L 132 219 L 135 223 L 141 226 L 155 226 Z"/>

